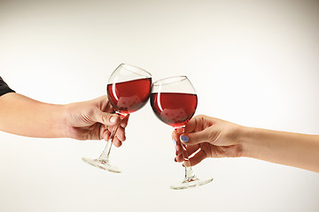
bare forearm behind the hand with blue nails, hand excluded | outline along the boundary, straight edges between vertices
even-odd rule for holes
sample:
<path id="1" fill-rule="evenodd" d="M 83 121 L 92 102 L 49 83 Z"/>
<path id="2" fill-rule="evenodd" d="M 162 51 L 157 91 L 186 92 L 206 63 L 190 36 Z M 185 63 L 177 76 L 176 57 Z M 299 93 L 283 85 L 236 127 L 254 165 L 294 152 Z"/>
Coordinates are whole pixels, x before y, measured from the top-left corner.
<path id="1" fill-rule="evenodd" d="M 243 156 L 319 172 L 319 136 L 245 127 Z"/>

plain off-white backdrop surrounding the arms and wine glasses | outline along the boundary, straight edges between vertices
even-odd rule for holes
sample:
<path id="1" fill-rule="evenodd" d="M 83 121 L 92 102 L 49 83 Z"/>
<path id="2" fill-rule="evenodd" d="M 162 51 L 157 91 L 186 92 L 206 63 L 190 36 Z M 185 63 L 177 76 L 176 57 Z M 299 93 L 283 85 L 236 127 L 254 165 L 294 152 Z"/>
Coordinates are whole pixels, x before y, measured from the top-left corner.
<path id="1" fill-rule="evenodd" d="M 153 80 L 187 75 L 196 114 L 239 125 L 319 133 L 316 1 L 0 1 L 0 75 L 51 103 L 105 94 L 121 63 Z M 149 104 L 112 149 L 113 174 L 83 163 L 104 141 L 0 133 L 0 211 L 319 211 L 319 175 L 251 158 L 206 159 L 214 181 L 183 178 L 172 129 Z"/>

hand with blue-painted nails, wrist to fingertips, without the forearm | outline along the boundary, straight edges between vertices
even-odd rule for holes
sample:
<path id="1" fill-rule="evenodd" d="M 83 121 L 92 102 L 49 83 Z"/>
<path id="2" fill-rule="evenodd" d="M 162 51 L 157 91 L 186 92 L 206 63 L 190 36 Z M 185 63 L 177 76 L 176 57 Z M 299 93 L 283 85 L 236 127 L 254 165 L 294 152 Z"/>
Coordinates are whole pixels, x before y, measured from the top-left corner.
<path id="1" fill-rule="evenodd" d="M 237 157 L 241 155 L 237 132 L 241 128 L 230 122 L 203 115 L 193 117 L 185 126 L 185 133 L 173 132 L 176 140 L 175 161 L 182 163 L 185 144 L 191 165 L 196 165 L 206 157 Z M 194 154 L 195 153 L 195 154 Z"/>

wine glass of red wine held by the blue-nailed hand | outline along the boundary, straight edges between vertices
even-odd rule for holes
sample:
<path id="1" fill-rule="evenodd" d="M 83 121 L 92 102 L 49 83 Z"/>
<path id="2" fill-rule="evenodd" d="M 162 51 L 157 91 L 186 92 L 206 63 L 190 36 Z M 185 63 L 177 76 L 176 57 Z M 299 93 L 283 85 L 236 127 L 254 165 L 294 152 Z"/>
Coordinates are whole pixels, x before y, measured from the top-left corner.
<path id="1" fill-rule="evenodd" d="M 191 81 L 186 76 L 159 79 L 152 84 L 151 105 L 159 120 L 171 125 L 184 133 L 184 127 L 194 115 L 198 104 L 198 97 Z M 189 155 L 184 144 L 183 157 L 185 166 L 185 178 L 170 186 L 172 189 L 186 189 L 202 186 L 212 182 L 213 178 L 197 178 L 191 169 Z"/>

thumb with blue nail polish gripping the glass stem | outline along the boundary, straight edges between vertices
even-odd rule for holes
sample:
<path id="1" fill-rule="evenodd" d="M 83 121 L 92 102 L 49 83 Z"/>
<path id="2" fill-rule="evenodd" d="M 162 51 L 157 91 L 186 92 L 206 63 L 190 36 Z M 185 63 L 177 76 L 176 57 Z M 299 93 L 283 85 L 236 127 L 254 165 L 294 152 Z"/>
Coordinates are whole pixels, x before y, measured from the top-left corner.
<path id="1" fill-rule="evenodd" d="M 212 134 L 210 127 L 196 133 L 183 133 L 180 140 L 186 145 L 194 145 L 203 142 L 209 142 Z"/>

